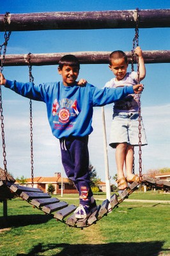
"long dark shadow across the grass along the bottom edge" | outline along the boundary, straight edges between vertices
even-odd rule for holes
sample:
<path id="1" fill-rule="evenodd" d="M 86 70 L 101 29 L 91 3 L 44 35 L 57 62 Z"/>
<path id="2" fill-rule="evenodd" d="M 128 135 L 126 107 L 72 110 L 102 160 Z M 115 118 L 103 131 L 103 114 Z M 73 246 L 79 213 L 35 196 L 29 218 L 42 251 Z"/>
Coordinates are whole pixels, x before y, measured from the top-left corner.
<path id="1" fill-rule="evenodd" d="M 19 253 L 17 256 L 157 256 L 162 249 L 164 241 L 141 243 L 109 243 L 109 244 L 37 244 L 29 253 Z M 52 252 L 54 250 L 54 253 Z M 58 253 L 56 253 L 59 251 Z M 170 250 L 169 250 L 170 251 Z M 40 253 L 40 254 L 39 254 Z"/>

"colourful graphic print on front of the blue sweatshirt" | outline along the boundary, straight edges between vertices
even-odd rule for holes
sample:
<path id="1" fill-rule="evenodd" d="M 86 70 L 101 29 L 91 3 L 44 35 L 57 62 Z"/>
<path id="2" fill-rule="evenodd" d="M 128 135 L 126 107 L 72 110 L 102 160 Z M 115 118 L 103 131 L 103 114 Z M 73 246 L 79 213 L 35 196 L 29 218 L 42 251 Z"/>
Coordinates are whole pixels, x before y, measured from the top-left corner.
<path id="1" fill-rule="evenodd" d="M 58 116 L 58 121 L 54 121 L 54 129 L 70 129 L 75 123 L 75 118 L 81 113 L 81 109 L 77 100 L 67 98 L 58 100 L 55 99 L 52 104 L 52 115 Z"/>

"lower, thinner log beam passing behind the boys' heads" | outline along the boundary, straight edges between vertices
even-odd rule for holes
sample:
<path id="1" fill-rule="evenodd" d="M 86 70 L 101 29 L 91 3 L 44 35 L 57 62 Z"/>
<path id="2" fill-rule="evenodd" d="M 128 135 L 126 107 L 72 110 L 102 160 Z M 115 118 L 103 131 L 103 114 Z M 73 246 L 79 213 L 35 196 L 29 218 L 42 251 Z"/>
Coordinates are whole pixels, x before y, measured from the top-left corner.
<path id="1" fill-rule="evenodd" d="M 111 52 L 58 52 L 31 54 L 31 65 L 57 65 L 59 59 L 65 54 L 77 56 L 81 64 L 107 64 Z M 125 52 L 131 63 L 131 52 Z M 170 51 L 143 51 L 145 63 L 170 63 Z M 2 57 L 1 57 L 2 58 Z M 0 58 L 0 60 L 1 60 Z M 27 54 L 6 54 L 4 66 L 26 66 L 28 65 Z"/>

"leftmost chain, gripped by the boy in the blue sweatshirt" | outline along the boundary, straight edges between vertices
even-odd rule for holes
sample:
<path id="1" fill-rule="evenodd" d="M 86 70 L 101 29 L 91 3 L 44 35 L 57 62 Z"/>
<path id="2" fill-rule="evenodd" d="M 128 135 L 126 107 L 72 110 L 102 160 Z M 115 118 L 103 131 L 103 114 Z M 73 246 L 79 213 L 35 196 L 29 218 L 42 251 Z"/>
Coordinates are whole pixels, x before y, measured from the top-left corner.
<path id="1" fill-rule="evenodd" d="M 1 59 L 1 68 L 0 72 L 3 72 L 3 66 L 4 66 L 4 59 L 5 59 L 5 54 L 6 54 L 6 47 L 8 45 L 8 40 L 10 39 L 11 31 L 8 31 L 7 33 L 7 25 L 8 25 L 8 15 L 9 13 L 6 12 L 4 15 L 4 43 L 0 45 L 0 58 L 1 58 L 1 51 L 3 49 L 3 58 Z M 1 111 L 1 134 L 2 134 L 2 142 L 3 142 L 3 164 L 4 164 L 4 176 L 5 176 L 5 181 L 7 182 L 8 180 L 8 173 L 7 173 L 7 161 L 6 161 L 6 145 L 5 145 L 5 140 L 4 140 L 4 116 L 3 116 L 3 99 L 2 99 L 2 90 L 0 86 L 0 111 Z"/>

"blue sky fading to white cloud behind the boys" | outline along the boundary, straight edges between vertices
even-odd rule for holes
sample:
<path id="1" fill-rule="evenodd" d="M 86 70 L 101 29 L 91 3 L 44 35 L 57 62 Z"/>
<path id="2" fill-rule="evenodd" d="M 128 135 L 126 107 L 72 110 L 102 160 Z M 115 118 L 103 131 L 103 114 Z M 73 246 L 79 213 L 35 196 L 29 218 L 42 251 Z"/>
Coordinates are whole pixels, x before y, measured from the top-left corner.
<path id="1" fill-rule="evenodd" d="M 0 0 L 0 13 L 29 12 L 71 12 L 166 9 L 169 0 L 163 1 L 19 1 Z M 0 44 L 3 42 L 0 34 Z M 134 29 L 95 29 L 65 31 L 22 31 L 12 32 L 6 54 L 76 52 L 76 51 L 131 51 Z M 169 28 L 139 29 L 139 45 L 144 51 L 169 50 Z M 130 70 L 130 66 L 128 67 Z M 28 81 L 27 67 L 4 67 L 4 76 L 17 81 Z M 35 83 L 58 81 L 57 66 L 33 67 Z M 79 78 L 102 88 L 112 78 L 108 65 L 81 65 Z M 141 97 L 142 115 L 148 146 L 143 147 L 143 173 L 153 168 L 170 167 L 170 84 L 169 63 L 146 64 L 146 78 L 143 80 L 144 92 Z M 3 112 L 8 172 L 14 177 L 30 177 L 30 137 L 29 137 L 29 100 L 3 88 Z M 89 137 L 90 161 L 104 180 L 104 147 L 102 134 L 102 110 L 95 108 L 93 116 L 94 131 Z M 112 105 L 105 107 L 107 141 L 111 127 Z M 59 142 L 52 136 L 47 121 L 45 104 L 33 102 L 33 140 L 35 176 L 52 176 L 61 172 Z M 0 142 L 1 143 L 1 142 Z M 2 143 L 1 143 L 2 144 Z M 1 145 L 0 145 L 1 146 Z M 2 148 L 2 146 L 1 146 Z M 135 169 L 138 173 L 138 150 L 135 150 Z M 116 173 L 114 150 L 108 148 L 109 171 Z M 0 156 L 3 168 L 3 157 Z"/>

